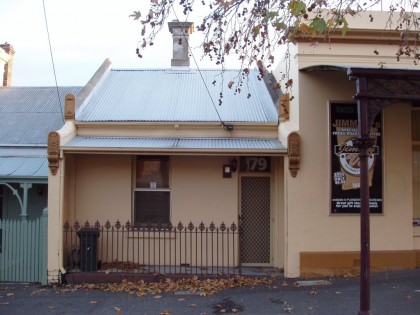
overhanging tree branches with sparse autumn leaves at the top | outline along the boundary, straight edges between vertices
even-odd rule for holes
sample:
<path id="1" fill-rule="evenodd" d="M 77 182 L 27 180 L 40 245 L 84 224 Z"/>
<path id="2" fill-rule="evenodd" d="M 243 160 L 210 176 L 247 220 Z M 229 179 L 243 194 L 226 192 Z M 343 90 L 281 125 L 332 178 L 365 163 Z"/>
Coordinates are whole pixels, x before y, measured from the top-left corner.
<path id="1" fill-rule="evenodd" d="M 261 61 L 269 70 L 278 62 L 275 56 L 280 46 L 293 44 L 302 36 L 325 36 L 328 39 L 333 30 L 341 31 L 345 36 L 349 29 L 347 18 L 357 18 L 359 12 L 371 9 L 379 2 L 380 0 L 151 0 L 146 14 L 141 15 L 139 11 L 134 11 L 130 17 L 140 21 L 141 36 L 136 53 L 142 57 L 143 50 L 153 45 L 155 37 L 166 25 L 175 8 L 182 10 L 185 19 L 190 19 L 191 12 L 203 12 L 203 9 L 207 9 L 204 11 L 206 15 L 200 21 L 193 21 L 196 30 L 203 36 L 200 46 L 202 57 L 209 58 L 223 70 L 226 57 L 236 54 L 241 70 L 259 68 L 257 61 Z M 405 34 L 408 30 L 419 29 L 417 15 L 413 13 L 418 7 L 419 0 L 390 0 L 390 6 L 384 9 L 388 9 L 390 14 L 399 15 L 396 29 Z M 177 18 L 181 20 L 181 17 Z M 371 19 L 373 18 L 374 16 Z M 384 25 L 385 28 L 395 29 L 395 25 Z M 400 56 L 420 59 L 416 43 L 417 41 L 410 45 L 402 36 L 397 59 Z M 287 82 L 288 75 L 280 74 L 279 77 L 282 87 L 287 90 L 283 84 Z"/>

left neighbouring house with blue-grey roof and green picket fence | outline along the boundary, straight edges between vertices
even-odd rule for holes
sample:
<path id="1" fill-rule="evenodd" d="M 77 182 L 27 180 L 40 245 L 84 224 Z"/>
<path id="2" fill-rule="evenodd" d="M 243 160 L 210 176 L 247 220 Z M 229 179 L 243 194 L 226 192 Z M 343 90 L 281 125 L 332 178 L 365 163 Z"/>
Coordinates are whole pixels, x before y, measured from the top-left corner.
<path id="1" fill-rule="evenodd" d="M 0 281 L 47 283 L 48 133 L 64 123 L 61 97 L 81 88 L 11 86 L 13 54 L 0 45 Z"/>

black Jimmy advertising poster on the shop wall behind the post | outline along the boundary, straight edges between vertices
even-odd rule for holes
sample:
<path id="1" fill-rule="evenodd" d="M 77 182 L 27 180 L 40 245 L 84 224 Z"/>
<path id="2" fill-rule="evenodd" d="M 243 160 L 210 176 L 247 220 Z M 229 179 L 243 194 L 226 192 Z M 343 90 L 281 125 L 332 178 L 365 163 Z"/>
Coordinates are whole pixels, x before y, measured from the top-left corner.
<path id="1" fill-rule="evenodd" d="M 382 213 L 382 115 L 372 126 L 369 152 L 370 213 Z M 360 213 L 357 104 L 330 104 L 331 213 Z"/>

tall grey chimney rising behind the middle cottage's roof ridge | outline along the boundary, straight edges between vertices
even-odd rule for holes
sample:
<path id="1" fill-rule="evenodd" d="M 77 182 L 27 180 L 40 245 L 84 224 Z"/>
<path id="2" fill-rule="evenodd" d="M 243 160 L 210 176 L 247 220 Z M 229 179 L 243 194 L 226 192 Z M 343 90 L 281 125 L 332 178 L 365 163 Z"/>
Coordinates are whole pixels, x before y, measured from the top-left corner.
<path id="1" fill-rule="evenodd" d="M 169 31 L 172 33 L 173 39 L 173 56 L 171 60 L 172 67 L 189 67 L 189 34 L 193 32 L 192 22 L 179 22 L 174 20 L 168 23 Z"/>

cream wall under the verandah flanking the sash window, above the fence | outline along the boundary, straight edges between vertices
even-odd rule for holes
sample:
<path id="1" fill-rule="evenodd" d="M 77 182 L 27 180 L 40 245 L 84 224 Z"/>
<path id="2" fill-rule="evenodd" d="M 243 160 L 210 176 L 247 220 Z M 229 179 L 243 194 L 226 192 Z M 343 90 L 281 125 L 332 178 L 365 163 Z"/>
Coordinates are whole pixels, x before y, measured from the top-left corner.
<path id="1" fill-rule="evenodd" d="M 88 220 L 131 221 L 132 172 L 130 155 L 74 156 L 74 175 L 69 179 L 69 219 L 81 224 Z M 170 158 L 171 220 L 186 224 L 192 221 L 209 224 L 237 223 L 238 179 L 222 177 L 222 165 L 227 158 L 178 157 Z M 72 169 L 72 168 L 71 168 Z M 67 178 L 70 172 L 67 173 Z M 74 188 L 71 186 L 74 185 Z M 74 206 L 70 206 L 74 200 Z M 70 209 L 72 208 L 72 209 Z"/>

